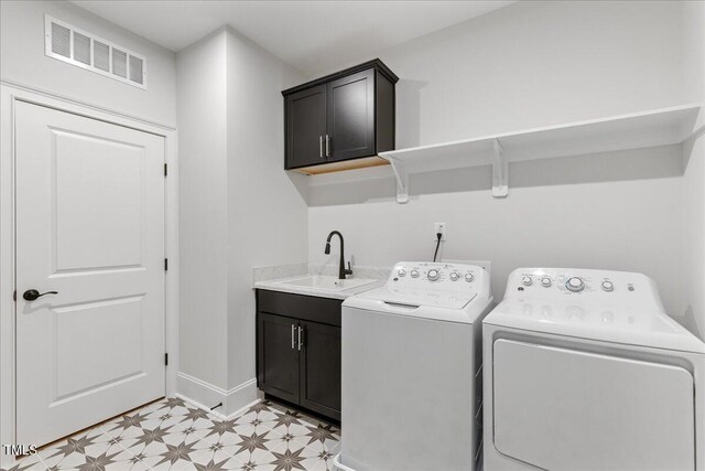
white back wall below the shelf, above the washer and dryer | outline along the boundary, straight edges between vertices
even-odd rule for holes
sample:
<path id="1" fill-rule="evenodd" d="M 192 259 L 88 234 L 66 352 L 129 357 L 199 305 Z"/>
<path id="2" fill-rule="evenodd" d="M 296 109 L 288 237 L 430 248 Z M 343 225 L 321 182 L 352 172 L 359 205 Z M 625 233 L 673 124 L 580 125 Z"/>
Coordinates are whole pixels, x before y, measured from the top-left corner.
<path id="1" fill-rule="evenodd" d="M 617 180 L 592 178 L 592 165 Z M 649 173 L 632 180 L 631 169 L 640 165 L 649 165 Z M 507 276 L 517 267 L 603 268 L 651 276 L 664 303 L 682 312 L 677 296 L 682 220 L 676 148 L 512 164 L 510 175 L 506 200 L 492 200 L 487 185 L 490 171 L 484 168 L 443 172 L 433 180 L 412 178 L 412 193 L 421 185 L 434 190 L 405 205 L 394 202 L 393 182 L 380 181 L 378 184 L 388 189 L 387 197 L 312 207 L 310 259 L 337 264 L 335 254 L 323 254 L 323 243 L 329 231 L 338 229 L 357 265 L 430 260 L 435 248 L 433 224 L 445 222 L 447 242 L 441 256 L 491 260 L 492 292 L 498 300 Z M 629 179 L 620 180 L 621 175 Z M 443 185 L 451 191 L 436 192 Z M 360 190 L 367 193 L 367 188 Z M 375 190 L 379 186 L 370 193 Z"/>

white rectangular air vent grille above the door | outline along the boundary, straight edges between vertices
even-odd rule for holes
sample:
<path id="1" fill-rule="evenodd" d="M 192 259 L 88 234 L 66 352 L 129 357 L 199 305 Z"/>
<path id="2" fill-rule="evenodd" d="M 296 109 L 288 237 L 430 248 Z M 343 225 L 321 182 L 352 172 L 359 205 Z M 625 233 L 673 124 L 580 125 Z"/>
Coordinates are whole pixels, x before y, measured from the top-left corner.
<path id="1" fill-rule="evenodd" d="M 44 34 L 47 56 L 147 88 L 143 56 L 50 15 L 44 17 Z"/>

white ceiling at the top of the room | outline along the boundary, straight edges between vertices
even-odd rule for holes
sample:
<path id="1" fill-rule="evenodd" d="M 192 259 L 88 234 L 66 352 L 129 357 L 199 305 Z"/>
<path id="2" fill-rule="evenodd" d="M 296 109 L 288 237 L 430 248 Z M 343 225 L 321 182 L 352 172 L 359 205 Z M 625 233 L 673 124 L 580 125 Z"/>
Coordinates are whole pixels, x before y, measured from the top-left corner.
<path id="1" fill-rule="evenodd" d="M 73 3 L 169 50 L 229 24 L 315 75 L 502 8 L 511 1 L 162 1 Z"/>

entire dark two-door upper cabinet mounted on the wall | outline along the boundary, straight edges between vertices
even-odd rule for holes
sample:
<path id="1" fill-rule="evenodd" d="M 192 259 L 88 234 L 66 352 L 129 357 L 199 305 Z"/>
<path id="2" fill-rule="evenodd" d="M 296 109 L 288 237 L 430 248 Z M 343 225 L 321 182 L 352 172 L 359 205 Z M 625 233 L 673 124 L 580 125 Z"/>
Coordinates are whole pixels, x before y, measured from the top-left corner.
<path id="1" fill-rule="evenodd" d="M 380 60 L 282 92 L 286 170 L 326 173 L 387 163 L 394 149 L 394 84 Z"/>

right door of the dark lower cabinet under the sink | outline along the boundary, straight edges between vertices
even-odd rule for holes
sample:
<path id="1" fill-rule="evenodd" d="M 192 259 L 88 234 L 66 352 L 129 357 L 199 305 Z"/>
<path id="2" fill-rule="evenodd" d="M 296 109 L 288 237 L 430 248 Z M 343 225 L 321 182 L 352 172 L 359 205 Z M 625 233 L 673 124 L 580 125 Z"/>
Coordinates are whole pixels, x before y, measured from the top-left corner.
<path id="1" fill-rule="evenodd" d="M 340 328 L 301 322 L 299 404 L 340 420 Z"/>

